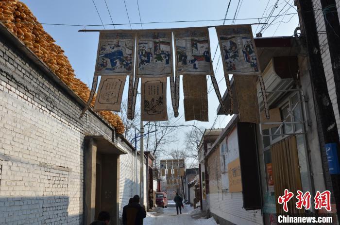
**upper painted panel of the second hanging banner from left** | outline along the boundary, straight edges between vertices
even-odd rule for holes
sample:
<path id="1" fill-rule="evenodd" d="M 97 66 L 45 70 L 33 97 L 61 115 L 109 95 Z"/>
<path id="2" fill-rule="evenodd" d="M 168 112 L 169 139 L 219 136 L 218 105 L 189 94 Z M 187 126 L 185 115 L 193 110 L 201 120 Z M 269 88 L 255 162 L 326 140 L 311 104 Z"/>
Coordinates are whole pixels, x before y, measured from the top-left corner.
<path id="1" fill-rule="evenodd" d="M 172 74 L 171 31 L 140 31 L 137 34 L 137 76 L 154 77 Z"/>

